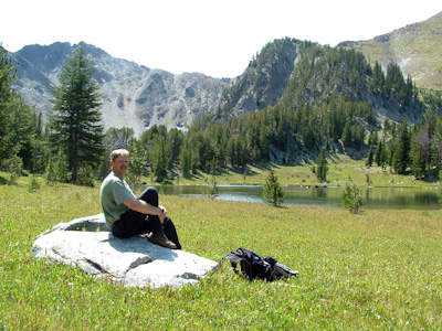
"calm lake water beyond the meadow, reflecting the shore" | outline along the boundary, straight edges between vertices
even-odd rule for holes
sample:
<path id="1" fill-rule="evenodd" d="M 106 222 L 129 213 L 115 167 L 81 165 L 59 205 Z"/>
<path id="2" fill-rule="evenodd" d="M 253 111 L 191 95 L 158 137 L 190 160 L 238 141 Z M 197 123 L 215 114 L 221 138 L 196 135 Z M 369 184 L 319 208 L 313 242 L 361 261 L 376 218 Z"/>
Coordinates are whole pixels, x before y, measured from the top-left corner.
<path id="1" fill-rule="evenodd" d="M 219 185 L 218 200 L 263 203 L 261 185 Z M 284 186 L 283 205 L 337 206 L 345 188 Z M 166 185 L 167 194 L 201 197 L 203 185 Z M 435 189 L 360 188 L 365 209 L 436 210 L 441 207 Z"/>

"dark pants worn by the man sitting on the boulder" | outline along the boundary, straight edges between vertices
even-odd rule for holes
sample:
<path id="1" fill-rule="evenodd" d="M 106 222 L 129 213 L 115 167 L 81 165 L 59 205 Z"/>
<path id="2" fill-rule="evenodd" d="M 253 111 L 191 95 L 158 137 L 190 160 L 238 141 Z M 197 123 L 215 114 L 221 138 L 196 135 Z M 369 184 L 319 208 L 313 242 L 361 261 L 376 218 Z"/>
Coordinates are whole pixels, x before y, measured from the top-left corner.
<path id="1" fill-rule="evenodd" d="M 148 204 L 158 206 L 158 192 L 155 188 L 148 188 L 138 196 L 138 200 L 144 200 Z M 159 232 L 161 229 L 165 232 L 169 241 L 176 244 L 178 249 L 181 249 L 177 229 L 169 216 L 166 216 L 161 224 L 157 215 L 147 215 L 128 210 L 114 223 L 112 233 L 117 237 L 128 238 L 137 234 Z"/>

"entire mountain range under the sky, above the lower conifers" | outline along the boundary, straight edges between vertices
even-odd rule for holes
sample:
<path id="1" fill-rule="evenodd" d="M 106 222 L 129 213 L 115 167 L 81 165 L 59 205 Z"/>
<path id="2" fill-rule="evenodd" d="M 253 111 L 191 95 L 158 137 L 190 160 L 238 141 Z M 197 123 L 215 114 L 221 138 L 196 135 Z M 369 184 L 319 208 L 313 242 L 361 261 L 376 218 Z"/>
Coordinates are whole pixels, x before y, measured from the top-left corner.
<path id="1" fill-rule="evenodd" d="M 196 118 L 225 120 L 278 103 L 296 109 L 333 98 L 370 104 L 379 122 L 385 118 L 419 121 L 425 106 L 417 97 L 400 98 L 399 90 L 391 94 L 370 86 L 370 68 L 378 61 L 387 73 L 390 64 L 397 64 L 418 86 L 442 90 L 441 20 L 439 13 L 373 40 L 343 42 L 337 47 L 290 38 L 274 40 L 232 79 L 199 73 L 173 75 L 115 58 L 94 45 L 84 47 L 97 70 L 105 129 L 129 127 L 136 135 L 152 125 L 186 129 Z M 29 105 L 43 114 L 52 111 L 50 88 L 57 85 L 60 70 L 75 46 L 59 42 L 10 53 L 19 62 L 13 87 Z M 441 102 L 434 104 L 441 110 Z"/>

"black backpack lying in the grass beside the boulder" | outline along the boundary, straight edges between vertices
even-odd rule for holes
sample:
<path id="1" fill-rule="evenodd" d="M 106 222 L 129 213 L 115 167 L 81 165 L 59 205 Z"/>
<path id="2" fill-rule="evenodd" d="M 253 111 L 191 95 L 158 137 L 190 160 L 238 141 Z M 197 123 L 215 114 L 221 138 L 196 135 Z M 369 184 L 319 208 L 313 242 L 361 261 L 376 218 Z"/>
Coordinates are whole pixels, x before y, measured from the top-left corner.
<path id="1" fill-rule="evenodd" d="M 225 255 L 224 259 L 230 259 L 233 270 L 238 274 L 238 263 L 240 263 L 241 273 L 244 274 L 250 280 L 252 279 L 265 279 L 273 281 L 275 279 L 298 276 L 298 271 L 294 271 L 287 266 L 284 266 L 276 261 L 275 258 L 267 256 L 263 258 L 261 255 L 253 253 L 248 248 L 238 248 Z"/>

